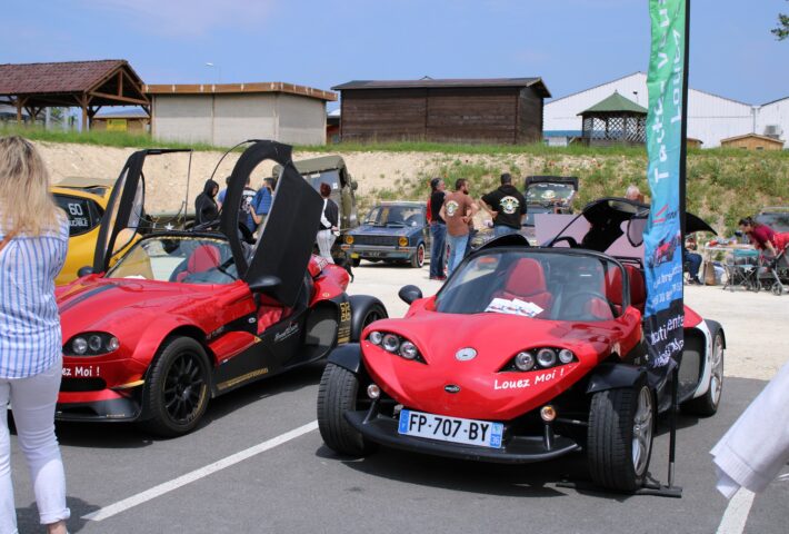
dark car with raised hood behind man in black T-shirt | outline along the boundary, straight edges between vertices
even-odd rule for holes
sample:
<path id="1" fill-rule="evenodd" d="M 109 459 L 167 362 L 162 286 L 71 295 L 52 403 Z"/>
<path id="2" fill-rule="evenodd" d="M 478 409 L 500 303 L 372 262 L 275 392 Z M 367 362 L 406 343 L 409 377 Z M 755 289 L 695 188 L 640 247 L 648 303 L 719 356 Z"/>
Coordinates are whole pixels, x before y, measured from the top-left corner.
<path id="1" fill-rule="evenodd" d="M 538 214 L 572 214 L 572 200 L 578 192 L 578 178 L 567 176 L 527 176 L 523 180 L 526 219 L 522 234 L 537 245 L 535 216 Z M 492 228 L 481 228 L 471 238 L 471 247 L 479 248 L 493 238 Z"/>

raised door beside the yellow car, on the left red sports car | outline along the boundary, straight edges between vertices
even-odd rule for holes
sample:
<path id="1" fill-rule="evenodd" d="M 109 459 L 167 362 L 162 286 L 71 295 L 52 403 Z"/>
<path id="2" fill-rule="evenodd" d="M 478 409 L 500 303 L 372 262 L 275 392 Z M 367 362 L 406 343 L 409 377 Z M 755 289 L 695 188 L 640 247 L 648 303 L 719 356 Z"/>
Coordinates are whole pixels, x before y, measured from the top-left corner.
<path id="1" fill-rule="evenodd" d="M 142 166 L 151 155 L 190 152 L 190 149 L 152 148 L 138 150 L 126 160 L 101 217 L 93 255 L 93 273 L 106 273 L 112 258 L 139 237 L 144 226 L 146 179 Z"/>

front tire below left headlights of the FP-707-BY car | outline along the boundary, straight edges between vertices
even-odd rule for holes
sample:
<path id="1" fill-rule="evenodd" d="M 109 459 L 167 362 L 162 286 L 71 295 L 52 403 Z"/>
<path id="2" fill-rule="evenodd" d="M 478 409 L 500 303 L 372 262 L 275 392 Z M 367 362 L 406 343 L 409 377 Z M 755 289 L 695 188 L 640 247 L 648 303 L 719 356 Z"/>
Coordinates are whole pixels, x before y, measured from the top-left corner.
<path id="1" fill-rule="evenodd" d="M 346 412 L 357 409 L 358 395 L 357 376 L 338 365 L 327 364 L 318 387 L 318 429 L 329 448 L 346 456 L 367 456 L 378 448 L 346 419 Z"/>

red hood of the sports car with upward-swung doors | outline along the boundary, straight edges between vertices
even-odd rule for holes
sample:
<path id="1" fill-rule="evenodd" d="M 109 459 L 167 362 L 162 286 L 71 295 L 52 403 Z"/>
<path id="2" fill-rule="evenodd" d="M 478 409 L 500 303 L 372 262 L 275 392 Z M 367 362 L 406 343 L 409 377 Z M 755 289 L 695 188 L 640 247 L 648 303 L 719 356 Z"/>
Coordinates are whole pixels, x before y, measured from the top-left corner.
<path id="1" fill-rule="evenodd" d="M 151 320 L 209 309 L 217 286 L 87 277 L 56 291 L 63 342 L 81 332 L 119 336 Z M 209 313 L 208 316 L 211 314 Z"/>

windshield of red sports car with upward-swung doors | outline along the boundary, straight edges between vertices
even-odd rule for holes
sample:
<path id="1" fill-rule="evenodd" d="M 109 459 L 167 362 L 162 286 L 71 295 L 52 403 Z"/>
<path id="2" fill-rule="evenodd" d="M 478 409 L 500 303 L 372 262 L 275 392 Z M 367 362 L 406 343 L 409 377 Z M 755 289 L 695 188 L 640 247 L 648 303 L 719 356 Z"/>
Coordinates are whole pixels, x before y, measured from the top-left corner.
<path id="1" fill-rule="evenodd" d="M 230 284 L 238 278 L 228 241 L 190 236 L 142 239 L 107 277 L 183 284 Z"/>

